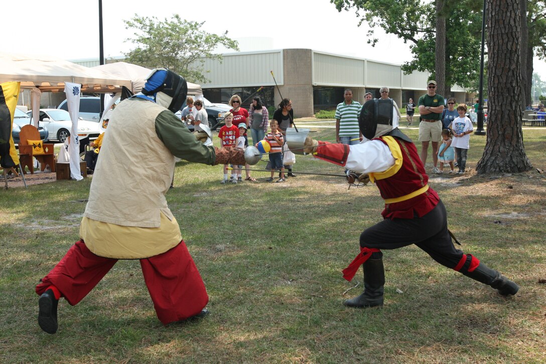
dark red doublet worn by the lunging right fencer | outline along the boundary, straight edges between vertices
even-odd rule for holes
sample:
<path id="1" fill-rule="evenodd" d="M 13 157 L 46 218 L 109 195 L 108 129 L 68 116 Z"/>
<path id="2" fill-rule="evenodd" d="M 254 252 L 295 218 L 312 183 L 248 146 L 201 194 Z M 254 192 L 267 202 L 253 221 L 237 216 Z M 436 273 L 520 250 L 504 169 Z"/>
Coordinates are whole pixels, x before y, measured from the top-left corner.
<path id="1" fill-rule="evenodd" d="M 426 186 L 429 181 L 429 176 L 426 175 L 425 167 L 417 153 L 415 144 L 397 138 L 394 139 L 400 145 L 402 166 L 391 177 L 375 180 L 383 199 L 409 195 Z M 383 138 L 373 140 L 379 140 L 387 144 Z M 440 201 L 440 197 L 438 197 L 435 190 L 429 187 L 427 191 L 416 197 L 401 202 L 385 203 L 385 209 L 381 215 L 385 219 L 413 219 L 414 214 L 421 217 L 429 213 L 438 204 L 438 201 Z"/>

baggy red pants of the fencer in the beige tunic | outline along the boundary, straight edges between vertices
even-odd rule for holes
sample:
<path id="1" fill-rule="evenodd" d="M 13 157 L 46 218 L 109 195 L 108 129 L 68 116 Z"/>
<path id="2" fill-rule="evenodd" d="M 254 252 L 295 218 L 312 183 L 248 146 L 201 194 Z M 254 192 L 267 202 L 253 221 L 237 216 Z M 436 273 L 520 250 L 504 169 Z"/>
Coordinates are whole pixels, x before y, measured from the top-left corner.
<path id="1" fill-rule="evenodd" d="M 54 285 L 74 306 L 116 262 L 117 259 L 91 253 L 84 241 L 79 240 L 36 286 L 36 293 L 41 295 Z M 163 325 L 196 315 L 209 302 L 205 284 L 183 240 L 165 253 L 141 259 L 140 266 L 157 318 Z"/>

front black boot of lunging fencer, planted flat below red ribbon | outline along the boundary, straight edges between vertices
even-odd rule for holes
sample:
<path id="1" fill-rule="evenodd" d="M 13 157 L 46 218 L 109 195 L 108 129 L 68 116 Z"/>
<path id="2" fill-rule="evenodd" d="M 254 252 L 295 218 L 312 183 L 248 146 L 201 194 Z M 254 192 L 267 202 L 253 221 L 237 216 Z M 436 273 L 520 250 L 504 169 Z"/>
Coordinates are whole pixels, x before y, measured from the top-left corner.
<path id="1" fill-rule="evenodd" d="M 362 266 L 364 292 L 358 297 L 343 301 L 343 304 L 349 307 L 383 306 L 383 285 L 385 284 L 383 259 L 368 259 Z"/>

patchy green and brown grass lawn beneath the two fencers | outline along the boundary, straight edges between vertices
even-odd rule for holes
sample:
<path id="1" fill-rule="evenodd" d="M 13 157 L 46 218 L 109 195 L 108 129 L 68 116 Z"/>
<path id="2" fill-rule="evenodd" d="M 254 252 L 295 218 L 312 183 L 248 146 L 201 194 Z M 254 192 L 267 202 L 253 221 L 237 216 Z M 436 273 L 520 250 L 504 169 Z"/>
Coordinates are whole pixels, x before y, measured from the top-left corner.
<path id="1" fill-rule="evenodd" d="M 417 140 L 417 130 L 405 131 Z M 312 135 L 335 139 L 331 128 Z M 545 170 L 546 128 L 524 139 Z M 375 186 L 303 174 L 268 184 L 259 172 L 257 183 L 224 186 L 221 167 L 179 162 L 167 200 L 211 314 L 163 327 L 139 262 L 119 261 L 80 304 L 60 301 L 60 328 L 49 335 L 37 325 L 34 286 L 78 239 L 91 178 L 2 190 L 0 362 L 544 363 L 546 178 L 476 175 L 484 143 L 471 136 L 466 175 L 431 175 L 430 184 L 462 249 L 520 284 L 512 298 L 408 246 L 384 252 L 382 309 L 345 308 L 362 274 L 348 283 L 341 269 L 360 232 L 381 219 Z M 342 168 L 297 156 L 298 171 Z"/>

